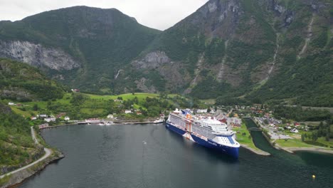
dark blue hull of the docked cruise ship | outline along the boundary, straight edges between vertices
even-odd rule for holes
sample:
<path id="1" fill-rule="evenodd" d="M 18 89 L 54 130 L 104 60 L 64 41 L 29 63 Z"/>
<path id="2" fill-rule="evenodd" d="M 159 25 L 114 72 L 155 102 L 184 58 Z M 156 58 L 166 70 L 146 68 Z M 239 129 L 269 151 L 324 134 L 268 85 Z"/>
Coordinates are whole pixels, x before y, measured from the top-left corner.
<path id="1" fill-rule="evenodd" d="M 175 127 L 174 125 L 171 125 L 169 123 L 166 123 L 166 127 L 169 130 L 172 130 L 172 131 L 178 133 L 179 135 L 186 134 L 186 131 L 181 130 L 180 128 Z M 229 155 L 231 157 L 238 159 L 239 147 L 228 147 L 225 145 L 220 145 L 220 144 L 214 142 L 213 140 L 208 139 L 206 141 L 206 140 L 203 140 L 201 137 L 197 137 L 196 135 L 193 135 L 193 134 L 191 134 L 191 138 L 194 140 L 194 142 L 198 143 L 199 145 L 211 148 L 213 150 L 217 150 L 218 152 L 223 152 L 226 155 Z"/>

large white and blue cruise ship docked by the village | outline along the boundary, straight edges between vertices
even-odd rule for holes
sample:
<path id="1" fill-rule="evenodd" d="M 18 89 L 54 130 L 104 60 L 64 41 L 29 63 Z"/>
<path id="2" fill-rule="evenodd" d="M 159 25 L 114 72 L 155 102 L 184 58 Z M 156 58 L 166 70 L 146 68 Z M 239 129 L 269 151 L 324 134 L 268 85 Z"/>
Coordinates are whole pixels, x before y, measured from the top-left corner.
<path id="1" fill-rule="evenodd" d="M 235 132 L 212 117 L 194 117 L 189 110 L 174 110 L 166 120 L 166 127 L 187 139 L 238 159 L 240 144 Z"/>

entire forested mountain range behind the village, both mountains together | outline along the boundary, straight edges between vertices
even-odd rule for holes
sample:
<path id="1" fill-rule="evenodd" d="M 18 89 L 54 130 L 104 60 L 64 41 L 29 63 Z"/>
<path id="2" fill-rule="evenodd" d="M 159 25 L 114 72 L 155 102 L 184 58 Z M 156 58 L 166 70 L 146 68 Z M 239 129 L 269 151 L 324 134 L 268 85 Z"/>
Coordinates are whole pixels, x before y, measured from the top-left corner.
<path id="1" fill-rule="evenodd" d="M 0 56 L 95 93 L 333 106 L 332 0 L 211 0 L 166 31 L 76 6 L 0 22 Z"/>

